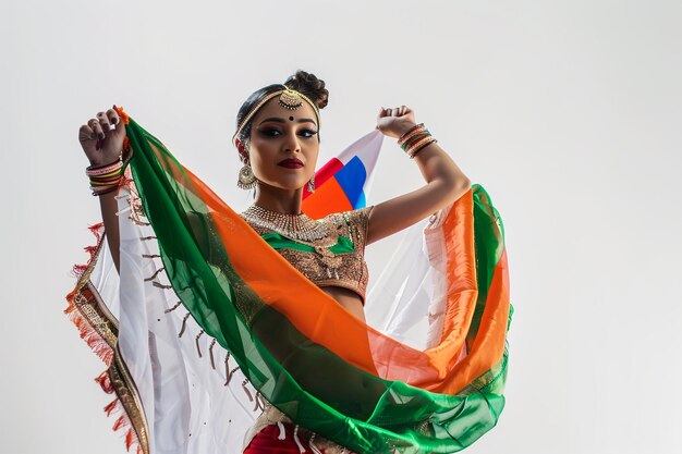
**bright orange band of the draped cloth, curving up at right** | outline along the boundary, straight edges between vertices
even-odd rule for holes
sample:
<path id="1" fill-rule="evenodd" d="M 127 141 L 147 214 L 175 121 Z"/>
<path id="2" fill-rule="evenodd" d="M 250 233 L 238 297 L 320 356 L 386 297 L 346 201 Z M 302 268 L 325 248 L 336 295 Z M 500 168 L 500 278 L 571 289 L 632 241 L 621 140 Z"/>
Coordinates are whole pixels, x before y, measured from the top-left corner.
<path id="1" fill-rule="evenodd" d="M 387 380 L 400 380 L 431 392 L 455 394 L 502 357 L 509 315 L 506 254 L 495 268 L 473 347 L 463 359 L 460 360 L 459 355 L 477 296 L 472 191 L 453 204 L 444 223 L 449 294 L 441 342 L 427 351 L 418 351 L 380 333 L 348 312 L 267 245 L 197 176 L 187 169 L 183 170 L 188 175 L 190 186 L 194 186 L 187 188 L 209 207 L 231 263 L 240 277 L 308 339 L 348 363 Z M 178 180 L 182 182 L 184 179 Z"/>

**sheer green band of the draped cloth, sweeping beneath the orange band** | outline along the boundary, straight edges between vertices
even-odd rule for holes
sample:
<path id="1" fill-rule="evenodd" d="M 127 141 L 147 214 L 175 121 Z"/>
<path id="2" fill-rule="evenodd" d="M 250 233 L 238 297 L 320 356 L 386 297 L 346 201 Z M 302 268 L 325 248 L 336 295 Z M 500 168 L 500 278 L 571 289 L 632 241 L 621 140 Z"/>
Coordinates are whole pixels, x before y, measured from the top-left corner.
<path id="1" fill-rule="evenodd" d="M 135 184 L 175 292 L 269 402 L 297 424 L 367 454 L 455 452 L 497 424 L 504 406 L 507 349 L 500 364 L 482 376 L 479 388 L 459 395 L 381 380 L 349 365 L 245 285 L 214 240 L 208 208 L 186 191 L 191 182 L 181 165 L 132 119 L 126 131 Z M 474 216 L 482 214 L 475 210 Z M 496 262 L 498 249 L 495 242 L 476 242 L 477 255 L 487 262 Z"/>

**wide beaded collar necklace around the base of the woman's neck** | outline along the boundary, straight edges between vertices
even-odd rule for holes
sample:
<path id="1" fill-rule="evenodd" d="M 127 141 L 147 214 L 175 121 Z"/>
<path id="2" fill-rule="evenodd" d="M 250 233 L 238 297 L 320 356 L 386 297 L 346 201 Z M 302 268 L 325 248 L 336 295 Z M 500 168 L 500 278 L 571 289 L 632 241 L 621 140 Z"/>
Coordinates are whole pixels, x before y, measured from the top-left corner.
<path id="1" fill-rule="evenodd" d="M 271 230 L 294 241 L 315 242 L 329 236 L 329 229 L 326 224 L 308 218 L 305 213 L 285 214 L 252 205 L 242 213 L 242 217 L 254 225 Z"/>

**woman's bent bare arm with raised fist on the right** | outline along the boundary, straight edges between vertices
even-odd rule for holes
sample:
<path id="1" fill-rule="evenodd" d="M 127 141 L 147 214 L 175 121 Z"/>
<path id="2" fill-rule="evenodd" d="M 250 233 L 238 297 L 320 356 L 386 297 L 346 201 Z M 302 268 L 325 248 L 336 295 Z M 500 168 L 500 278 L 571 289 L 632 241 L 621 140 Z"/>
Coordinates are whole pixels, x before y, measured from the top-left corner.
<path id="1" fill-rule="evenodd" d="M 428 133 L 416 125 L 414 112 L 402 106 L 395 109 L 381 109 L 377 128 L 385 135 L 399 138 L 412 134 L 412 149 L 426 185 L 416 191 L 386 200 L 374 207 L 369 213 L 367 244 L 381 240 L 421 221 L 452 204 L 470 188 L 468 177 L 454 163 L 452 158 L 436 142 L 429 142 Z M 422 139 L 426 146 L 419 147 Z"/>

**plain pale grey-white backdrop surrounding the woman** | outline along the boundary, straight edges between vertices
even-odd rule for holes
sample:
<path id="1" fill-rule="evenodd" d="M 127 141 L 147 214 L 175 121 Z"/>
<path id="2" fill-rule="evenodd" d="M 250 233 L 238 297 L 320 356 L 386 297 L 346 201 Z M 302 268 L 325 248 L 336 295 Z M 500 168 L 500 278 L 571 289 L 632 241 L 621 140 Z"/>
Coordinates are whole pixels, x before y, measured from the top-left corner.
<path id="1" fill-rule="evenodd" d="M 296 69 L 331 93 L 320 162 L 404 103 L 502 216 L 508 404 L 466 452 L 682 452 L 681 23 L 679 1 L 2 0 L 0 452 L 124 452 L 62 315 L 99 220 L 78 126 L 123 106 L 241 207 L 236 110 Z M 387 139 L 370 201 L 422 183 Z"/>

